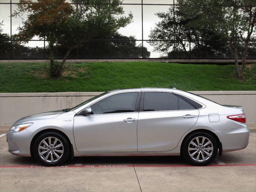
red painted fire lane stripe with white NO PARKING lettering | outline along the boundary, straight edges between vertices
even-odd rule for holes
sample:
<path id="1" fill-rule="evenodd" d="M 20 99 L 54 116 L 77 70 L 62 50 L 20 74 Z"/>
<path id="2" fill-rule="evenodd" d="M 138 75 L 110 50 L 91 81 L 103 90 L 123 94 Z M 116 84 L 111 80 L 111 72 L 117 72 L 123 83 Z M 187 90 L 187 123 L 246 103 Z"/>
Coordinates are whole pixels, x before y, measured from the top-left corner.
<path id="1" fill-rule="evenodd" d="M 237 166 L 256 166 L 256 164 L 225 164 L 225 165 L 208 165 L 205 167 L 237 167 Z M 117 167 L 133 167 L 133 165 L 66 165 L 49 168 L 117 168 Z M 192 165 L 134 165 L 134 167 L 195 167 Z M 0 168 L 47 168 L 46 166 L 30 166 L 30 165 L 0 165 Z"/>

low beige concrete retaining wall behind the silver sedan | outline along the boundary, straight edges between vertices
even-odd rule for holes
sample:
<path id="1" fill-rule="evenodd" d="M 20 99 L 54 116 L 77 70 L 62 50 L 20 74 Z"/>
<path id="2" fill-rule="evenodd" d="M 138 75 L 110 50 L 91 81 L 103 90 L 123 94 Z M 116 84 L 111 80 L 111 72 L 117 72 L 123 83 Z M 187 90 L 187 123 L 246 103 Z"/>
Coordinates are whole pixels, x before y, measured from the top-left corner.
<path id="1" fill-rule="evenodd" d="M 40 112 L 71 108 L 101 92 L 0 93 L 0 126 Z M 244 106 L 248 123 L 256 123 L 256 91 L 192 92 L 220 104 Z"/>

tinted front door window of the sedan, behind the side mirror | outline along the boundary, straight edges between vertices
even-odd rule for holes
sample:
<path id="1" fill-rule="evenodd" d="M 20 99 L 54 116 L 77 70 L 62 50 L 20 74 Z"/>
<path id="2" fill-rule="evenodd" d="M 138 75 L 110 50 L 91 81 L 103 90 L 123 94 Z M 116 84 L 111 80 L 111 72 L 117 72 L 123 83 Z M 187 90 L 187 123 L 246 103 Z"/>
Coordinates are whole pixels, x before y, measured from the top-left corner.
<path id="1" fill-rule="evenodd" d="M 109 96 L 92 104 L 92 114 L 126 113 L 134 112 L 138 92 L 120 93 Z"/>

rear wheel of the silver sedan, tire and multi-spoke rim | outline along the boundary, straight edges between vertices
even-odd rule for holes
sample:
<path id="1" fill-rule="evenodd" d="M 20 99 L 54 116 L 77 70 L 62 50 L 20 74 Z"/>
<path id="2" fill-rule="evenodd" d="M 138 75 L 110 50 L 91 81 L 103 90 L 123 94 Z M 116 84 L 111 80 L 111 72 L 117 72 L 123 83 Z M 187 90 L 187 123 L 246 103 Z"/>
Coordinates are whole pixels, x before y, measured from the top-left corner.
<path id="1" fill-rule="evenodd" d="M 182 145 L 182 155 L 193 165 L 210 164 L 218 154 L 218 142 L 209 133 L 196 132 L 189 135 Z"/>

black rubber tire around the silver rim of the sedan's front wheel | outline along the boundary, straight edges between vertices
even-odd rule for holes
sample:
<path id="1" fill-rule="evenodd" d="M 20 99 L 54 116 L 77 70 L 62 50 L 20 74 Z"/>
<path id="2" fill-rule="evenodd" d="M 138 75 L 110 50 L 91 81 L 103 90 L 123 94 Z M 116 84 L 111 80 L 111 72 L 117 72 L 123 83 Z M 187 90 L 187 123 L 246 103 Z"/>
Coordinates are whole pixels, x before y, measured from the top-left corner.
<path id="1" fill-rule="evenodd" d="M 58 143 L 60 144 L 60 142 L 61 142 L 62 145 L 63 145 L 63 148 L 62 147 L 56 148 L 56 150 L 57 149 L 63 150 L 62 154 L 56 152 L 56 154 L 60 155 L 59 156 L 60 159 L 57 159 L 57 156 L 55 154 L 53 154 L 55 162 L 46 162 L 45 160 L 43 160 L 43 157 L 40 156 L 39 151 L 38 151 L 39 150 L 38 149 L 39 145 L 41 144 L 41 146 L 42 146 L 41 141 L 46 139 L 46 138 L 48 138 L 48 137 L 57 138 L 59 140 Z M 51 143 L 53 143 L 54 140 Z M 47 143 L 47 144 L 49 144 L 49 143 Z M 44 145 L 44 146 L 46 146 L 46 145 Z M 51 150 L 53 150 L 53 148 Z M 44 150 L 44 151 L 46 151 L 46 150 Z M 51 153 L 51 152 L 53 153 L 53 151 L 50 151 L 50 149 L 49 149 L 45 154 L 47 155 L 48 153 Z M 63 136 L 62 134 L 58 133 L 58 132 L 54 132 L 54 131 L 44 132 L 44 133 L 40 134 L 40 136 L 38 136 L 38 138 L 36 138 L 36 140 L 34 142 L 34 146 L 33 146 L 33 154 L 34 154 L 34 158 L 38 162 L 43 164 L 44 166 L 60 166 L 60 165 L 64 164 L 66 162 L 66 160 L 68 159 L 68 157 L 69 157 L 69 154 L 70 154 L 70 144 L 69 144 L 68 140 L 66 139 L 66 137 Z M 48 159 L 50 159 L 51 156 L 52 156 L 52 154 L 49 154 Z"/>

